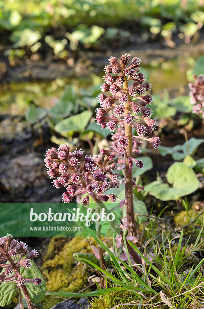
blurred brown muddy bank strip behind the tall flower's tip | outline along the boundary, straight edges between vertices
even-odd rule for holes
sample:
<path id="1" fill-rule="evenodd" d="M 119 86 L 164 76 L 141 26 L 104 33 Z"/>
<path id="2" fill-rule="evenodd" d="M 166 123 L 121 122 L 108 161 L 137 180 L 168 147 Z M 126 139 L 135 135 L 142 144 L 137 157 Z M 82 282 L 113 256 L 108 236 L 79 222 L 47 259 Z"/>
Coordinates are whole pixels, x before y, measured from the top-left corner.
<path id="1" fill-rule="evenodd" d="M 161 42 L 148 42 L 131 44 L 120 49 L 83 50 L 73 57 L 65 60 L 55 60 L 52 56 L 35 55 L 31 59 L 20 60 L 16 66 L 10 66 L 7 57 L 0 56 L 1 64 L 4 63 L 0 83 L 11 81 L 53 80 L 57 77 L 77 78 L 88 76 L 92 73 L 100 74 L 101 68 L 107 64 L 111 56 L 120 57 L 122 53 L 130 53 L 132 57 L 142 59 L 142 66 L 149 66 L 151 61 L 163 63 L 175 58 L 198 58 L 204 54 L 204 40 L 197 43 L 184 44 L 180 40 L 175 48 L 165 46 Z"/>

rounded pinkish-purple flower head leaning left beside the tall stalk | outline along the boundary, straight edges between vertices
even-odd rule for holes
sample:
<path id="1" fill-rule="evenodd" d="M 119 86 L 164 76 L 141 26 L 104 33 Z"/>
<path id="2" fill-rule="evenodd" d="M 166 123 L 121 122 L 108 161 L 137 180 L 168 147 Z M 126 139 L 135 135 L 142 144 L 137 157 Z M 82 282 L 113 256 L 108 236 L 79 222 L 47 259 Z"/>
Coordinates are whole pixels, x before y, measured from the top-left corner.
<path id="1" fill-rule="evenodd" d="M 66 187 L 63 193 L 64 203 L 69 203 L 77 195 L 87 196 L 82 200 L 89 205 L 89 196 L 96 193 L 102 201 L 112 202 L 116 200 L 114 194 L 105 195 L 108 188 L 119 187 L 119 175 L 115 172 L 117 164 L 114 162 L 115 155 L 111 151 L 100 149 L 99 155 L 85 156 L 81 163 L 83 151 L 69 151 L 69 146 L 63 144 L 58 149 L 48 149 L 45 158 L 47 173 L 53 179 L 55 188 Z"/>

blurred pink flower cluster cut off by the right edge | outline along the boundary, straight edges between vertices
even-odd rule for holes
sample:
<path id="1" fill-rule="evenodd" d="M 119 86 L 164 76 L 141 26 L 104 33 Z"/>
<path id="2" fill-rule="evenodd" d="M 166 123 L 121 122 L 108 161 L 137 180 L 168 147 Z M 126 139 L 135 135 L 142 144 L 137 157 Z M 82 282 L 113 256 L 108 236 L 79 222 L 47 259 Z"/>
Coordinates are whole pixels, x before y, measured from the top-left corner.
<path id="1" fill-rule="evenodd" d="M 195 82 L 189 84 L 190 103 L 193 105 L 192 112 L 196 115 L 201 114 L 204 119 L 204 75 L 193 74 L 193 77 Z"/>

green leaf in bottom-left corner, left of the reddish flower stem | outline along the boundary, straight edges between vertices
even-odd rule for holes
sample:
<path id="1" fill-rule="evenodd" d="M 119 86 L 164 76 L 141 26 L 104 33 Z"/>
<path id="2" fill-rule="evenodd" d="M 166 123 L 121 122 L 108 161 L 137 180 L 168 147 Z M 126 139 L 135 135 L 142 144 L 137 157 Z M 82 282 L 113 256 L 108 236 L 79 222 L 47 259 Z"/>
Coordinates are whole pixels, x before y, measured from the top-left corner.
<path id="1" fill-rule="evenodd" d="M 0 285 L 0 306 L 4 307 L 10 304 L 17 293 L 17 284 L 15 282 L 3 282 Z"/>

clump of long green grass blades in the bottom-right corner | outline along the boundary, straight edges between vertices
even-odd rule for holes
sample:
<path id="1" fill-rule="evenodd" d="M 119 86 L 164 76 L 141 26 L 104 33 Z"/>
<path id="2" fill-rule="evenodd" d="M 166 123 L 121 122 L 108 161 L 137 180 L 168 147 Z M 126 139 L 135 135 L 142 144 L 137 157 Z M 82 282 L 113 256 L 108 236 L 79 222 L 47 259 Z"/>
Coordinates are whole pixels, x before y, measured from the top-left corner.
<path id="1" fill-rule="evenodd" d="M 194 232 L 193 237 L 186 235 L 184 229 L 180 229 L 177 233 L 164 229 L 162 235 L 157 237 L 158 223 L 156 222 L 155 219 L 154 222 L 150 219 L 144 230 L 144 239 L 148 239 L 149 233 L 154 235 L 154 238 L 145 243 L 143 253 L 141 253 L 142 248 L 139 251 L 133 243 L 129 242 L 142 258 L 140 265 L 132 265 L 129 254 L 127 254 L 128 261 L 122 261 L 116 257 L 89 230 L 100 247 L 111 256 L 112 266 L 104 270 L 86 260 L 105 278 L 106 288 L 101 289 L 96 284 L 98 290 L 77 294 L 77 296 L 94 297 L 91 303 L 92 308 L 100 309 L 201 308 L 204 305 L 204 257 L 202 254 L 204 220 L 197 233 Z M 75 293 L 63 292 L 55 293 L 55 295 L 76 296 Z"/>

